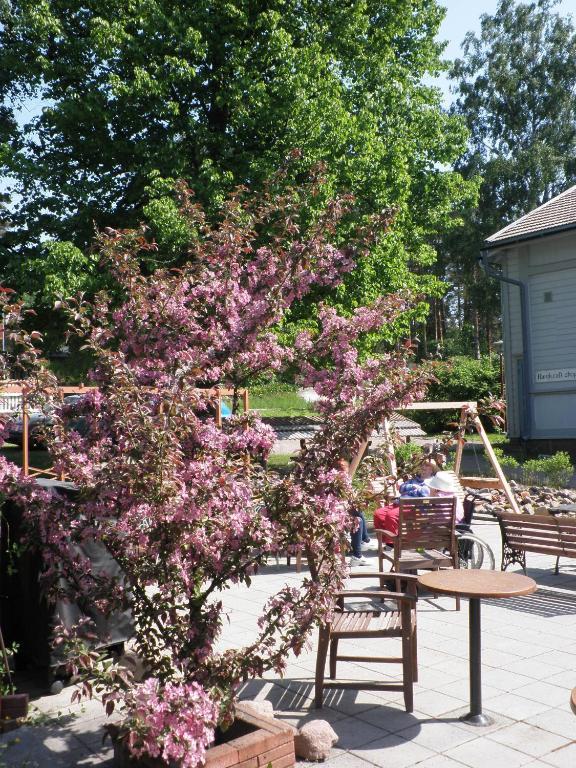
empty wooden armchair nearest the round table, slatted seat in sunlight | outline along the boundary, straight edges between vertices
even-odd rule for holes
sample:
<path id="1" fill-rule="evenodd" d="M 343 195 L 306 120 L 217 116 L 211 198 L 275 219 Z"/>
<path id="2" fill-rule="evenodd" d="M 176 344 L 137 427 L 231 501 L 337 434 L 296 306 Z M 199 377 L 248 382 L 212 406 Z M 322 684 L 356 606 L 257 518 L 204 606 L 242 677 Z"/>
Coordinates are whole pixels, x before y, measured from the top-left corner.
<path id="1" fill-rule="evenodd" d="M 374 578 L 383 582 L 396 583 L 394 573 L 352 573 L 350 578 Z M 418 679 L 416 642 L 416 578 L 402 575 L 406 584 L 404 592 L 390 592 L 382 586 L 369 591 L 344 590 L 335 595 L 336 607 L 331 621 L 320 628 L 318 655 L 316 657 L 315 703 L 321 708 L 324 702 L 324 688 L 357 688 L 366 690 L 403 691 L 407 712 L 414 709 L 413 684 Z M 356 603 L 346 607 L 347 598 L 369 598 L 365 605 Z M 340 640 L 358 638 L 401 638 L 401 656 L 350 656 L 338 654 Z M 324 680 L 326 656 L 330 649 L 330 681 Z M 376 683 L 336 680 L 338 661 L 368 661 L 370 663 L 402 664 L 402 682 Z"/>

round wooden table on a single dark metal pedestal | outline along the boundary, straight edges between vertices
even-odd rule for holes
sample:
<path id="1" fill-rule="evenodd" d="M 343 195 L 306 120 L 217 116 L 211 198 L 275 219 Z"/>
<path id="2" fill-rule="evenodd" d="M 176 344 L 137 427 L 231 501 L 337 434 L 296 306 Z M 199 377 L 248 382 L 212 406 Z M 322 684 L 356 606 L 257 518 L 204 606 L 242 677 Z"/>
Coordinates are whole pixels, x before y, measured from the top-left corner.
<path id="1" fill-rule="evenodd" d="M 483 597 L 530 595 L 538 589 L 536 582 L 519 573 L 463 568 L 430 571 L 419 576 L 418 582 L 440 595 L 469 598 L 470 712 L 460 719 L 471 725 L 491 725 L 492 720 L 482 712 L 480 601 Z"/>

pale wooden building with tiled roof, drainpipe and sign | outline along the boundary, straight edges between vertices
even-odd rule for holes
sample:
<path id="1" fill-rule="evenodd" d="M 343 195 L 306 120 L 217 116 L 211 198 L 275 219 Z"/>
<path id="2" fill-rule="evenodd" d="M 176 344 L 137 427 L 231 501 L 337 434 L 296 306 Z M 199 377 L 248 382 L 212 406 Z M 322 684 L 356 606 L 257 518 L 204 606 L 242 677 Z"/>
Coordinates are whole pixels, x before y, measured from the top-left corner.
<path id="1" fill-rule="evenodd" d="M 576 440 L 576 186 L 489 237 L 482 262 L 501 281 L 509 437 Z"/>

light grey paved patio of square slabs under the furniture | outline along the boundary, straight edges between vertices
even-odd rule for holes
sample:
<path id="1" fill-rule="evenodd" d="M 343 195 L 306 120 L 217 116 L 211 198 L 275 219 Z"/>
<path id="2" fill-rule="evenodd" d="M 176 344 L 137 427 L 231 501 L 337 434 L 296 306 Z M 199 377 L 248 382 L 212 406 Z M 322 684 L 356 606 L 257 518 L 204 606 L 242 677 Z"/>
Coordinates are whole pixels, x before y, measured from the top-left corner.
<path id="1" fill-rule="evenodd" d="M 497 525 L 475 523 L 474 530 L 499 559 Z M 367 555 L 376 563 L 375 553 Z M 561 561 L 558 576 L 554 563 L 552 557 L 529 554 L 528 573 L 540 590 L 530 597 L 483 603 L 484 710 L 495 719 L 488 728 L 458 720 L 468 710 L 468 610 L 463 601 L 456 612 L 451 598 L 419 602 L 420 679 L 412 714 L 404 711 L 399 693 L 354 690 L 328 690 L 325 708 L 315 710 L 314 645 L 290 660 L 284 679 L 270 675 L 252 681 L 241 698 L 271 701 L 276 716 L 294 725 L 328 720 L 339 737 L 330 768 L 573 768 L 576 716 L 569 695 L 576 686 L 576 561 Z M 297 580 L 293 568 L 271 565 L 254 578 L 250 590 L 229 592 L 225 601 L 234 620 L 224 642 L 241 646 L 252 638 L 259 606 L 281 584 Z M 348 677 L 370 680 L 386 671 L 386 665 L 349 668 Z M 112 765 L 110 746 L 101 743 L 100 706 L 70 706 L 71 690 L 38 699 L 38 724 L 2 737 L 0 767 Z"/>

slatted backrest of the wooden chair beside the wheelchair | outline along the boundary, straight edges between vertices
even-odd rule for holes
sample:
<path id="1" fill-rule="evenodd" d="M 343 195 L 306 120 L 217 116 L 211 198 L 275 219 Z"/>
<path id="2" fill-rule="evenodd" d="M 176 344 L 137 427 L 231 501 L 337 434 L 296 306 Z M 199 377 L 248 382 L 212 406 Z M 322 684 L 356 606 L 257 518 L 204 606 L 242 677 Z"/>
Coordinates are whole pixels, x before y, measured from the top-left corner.
<path id="1" fill-rule="evenodd" d="M 396 545 L 405 549 L 454 549 L 456 497 L 401 498 Z"/>

